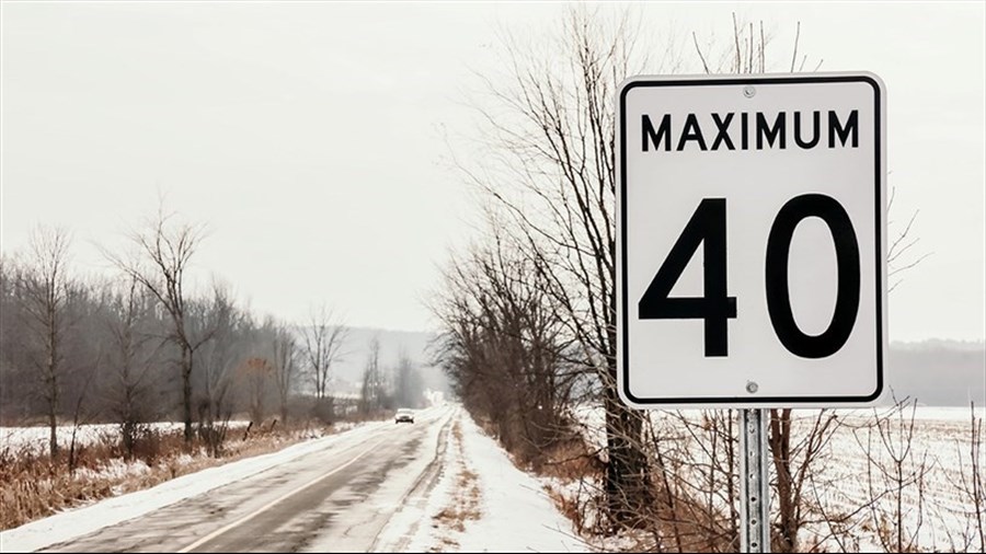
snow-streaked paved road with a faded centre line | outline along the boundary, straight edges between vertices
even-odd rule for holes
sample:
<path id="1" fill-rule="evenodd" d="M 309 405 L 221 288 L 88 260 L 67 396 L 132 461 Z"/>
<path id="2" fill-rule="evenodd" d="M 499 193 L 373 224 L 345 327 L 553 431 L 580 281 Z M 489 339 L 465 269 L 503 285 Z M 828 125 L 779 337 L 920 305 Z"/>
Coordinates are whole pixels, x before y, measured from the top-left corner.
<path id="1" fill-rule="evenodd" d="M 371 552 L 436 483 L 454 415 L 429 409 L 45 551 Z"/>

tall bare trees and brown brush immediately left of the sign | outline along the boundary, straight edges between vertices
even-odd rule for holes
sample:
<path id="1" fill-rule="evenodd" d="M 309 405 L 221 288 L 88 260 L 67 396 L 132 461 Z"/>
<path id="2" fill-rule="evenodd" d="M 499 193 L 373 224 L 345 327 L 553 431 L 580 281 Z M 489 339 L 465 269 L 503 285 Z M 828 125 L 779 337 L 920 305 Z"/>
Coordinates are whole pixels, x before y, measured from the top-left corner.
<path id="1" fill-rule="evenodd" d="M 505 73 L 483 76 L 475 99 L 483 153 L 463 168 L 485 226 L 434 308 L 456 392 L 525 460 L 567 440 L 575 401 L 603 407 L 606 447 L 592 455 L 610 529 L 653 504 L 643 417 L 616 385 L 612 102 L 644 72 L 626 23 L 576 10 L 560 33 L 505 41 Z"/>

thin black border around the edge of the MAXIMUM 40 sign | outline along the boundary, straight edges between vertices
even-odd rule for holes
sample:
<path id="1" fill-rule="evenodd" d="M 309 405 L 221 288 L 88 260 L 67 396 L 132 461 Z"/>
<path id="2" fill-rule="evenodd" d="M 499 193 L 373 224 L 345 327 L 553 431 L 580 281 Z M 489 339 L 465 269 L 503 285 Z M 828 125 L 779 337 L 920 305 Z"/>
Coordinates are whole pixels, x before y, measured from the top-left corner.
<path id="1" fill-rule="evenodd" d="M 710 85 L 744 85 L 744 84 L 791 84 L 791 83 L 846 83 L 863 82 L 873 88 L 875 143 L 874 143 L 874 185 L 875 185 L 875 245 L 876 245 L 876 390 L 865 396 L 711 396 L 711 397 L 660 397 L 641 399 L 630 392 L 630 350 L 629 350 L 629 310 L 627 307 L 627 94 L 637 88 L 653 86 L 710 86 Z M 881 83 L 867 74 L 839 74 L 839 76 L 812 76 L 812 77 L 731 77 L 731 78 L 696 78 L 696 79 L 661 79 L 627 83 L 619 95 L 620 118 L 620 205 L 618 220 L 620 221 L 620 308 L 622 308 L 622 333 L 619 338 L 619 347 L 622 349 L 620 357 L 622 367 L 622 393 L 635 404 L 708 404 L 708 405 L 736 405 L 736 404 L 824 404 L 824 403 L 867 403 L 880 397 L 883 393 L 883 89 Z M 862 256 L 860 256 L 862 257 Z"/>

